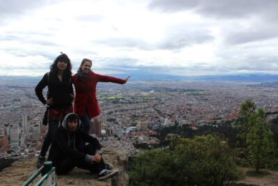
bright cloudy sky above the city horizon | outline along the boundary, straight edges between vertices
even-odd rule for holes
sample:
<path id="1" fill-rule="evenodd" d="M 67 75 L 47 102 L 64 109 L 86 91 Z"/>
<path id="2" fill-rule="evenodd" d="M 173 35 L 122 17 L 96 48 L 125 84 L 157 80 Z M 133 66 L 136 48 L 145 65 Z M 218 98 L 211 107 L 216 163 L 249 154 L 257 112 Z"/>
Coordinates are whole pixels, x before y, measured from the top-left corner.
<path id="1" fill-rule="evenodd" d="M 0 0 L 0 75 L 278 74 L 277 0 Z"/>

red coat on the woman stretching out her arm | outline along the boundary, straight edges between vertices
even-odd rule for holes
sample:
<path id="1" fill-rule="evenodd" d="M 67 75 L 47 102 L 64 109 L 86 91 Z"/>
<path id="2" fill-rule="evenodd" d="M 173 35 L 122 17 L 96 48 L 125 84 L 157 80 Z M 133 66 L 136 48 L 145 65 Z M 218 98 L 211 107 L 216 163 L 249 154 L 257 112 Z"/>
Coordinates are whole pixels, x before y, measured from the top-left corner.
<path id="1" fill-rule="evenodd" d="M 72 76 L 72 83 L 74 84 L 76 95 L 74 99 L 74 112 L 82 117 L 85 109 L 88 111 L 89 118 L 99 116 L 99 103 L 97 102 L 97 82 L 112 82 L 116 84 L 124 84 L 124 79 L 116 77 L 98 75 L 90 72 L 87 75 L 85 82 L 77 79 L 77 75 Z"/>

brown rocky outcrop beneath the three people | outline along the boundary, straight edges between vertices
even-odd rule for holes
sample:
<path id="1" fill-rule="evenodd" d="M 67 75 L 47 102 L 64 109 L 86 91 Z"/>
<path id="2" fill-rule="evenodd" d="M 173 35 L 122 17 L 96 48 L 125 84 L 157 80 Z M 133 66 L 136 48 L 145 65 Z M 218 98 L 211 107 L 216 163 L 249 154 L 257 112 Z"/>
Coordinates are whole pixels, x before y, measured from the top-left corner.
<path id="1" fill-rule="evenodd" d="M 98 186 L 125 186 L 129 185 L 127 170 L 127 157 L 124 152 L 103 148 L 104 161 L 113 164 L 113 169 L 119 173 L 115 178 L 98 181 L 97 175 L 89 171 L 75 168 L 65 176 L 58 176 L 58 185 L 98 185 Z M 17 160 L 13 165 L 0 172 L 0 185 L 14 186 L 22 185 L 35 171 L 36 158 L 28 160 Z"/>

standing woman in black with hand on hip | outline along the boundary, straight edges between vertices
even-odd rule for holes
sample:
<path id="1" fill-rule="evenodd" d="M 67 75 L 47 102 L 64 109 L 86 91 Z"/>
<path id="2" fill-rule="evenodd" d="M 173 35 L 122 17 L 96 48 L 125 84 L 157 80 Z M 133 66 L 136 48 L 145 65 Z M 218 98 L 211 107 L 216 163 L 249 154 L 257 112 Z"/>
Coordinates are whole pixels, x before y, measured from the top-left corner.
<path id="1" fill-rule="evenodd" d="M 47 86 L 47 100 L 42 95 L 42 90 Z M 45 155 L 51 140 L 58 129 L 58 125 L 66 114 L 72 112 L 72 100 L 74 92 L 72 88 L 72 65 L 66 54 L 60 54 L 50 66 L 47 72 L 35 87 L 35 94 L 42 104 L 49 107 L 47 112 L 48 131 L 42 143 L 37 168 L 43 165 Z"/>

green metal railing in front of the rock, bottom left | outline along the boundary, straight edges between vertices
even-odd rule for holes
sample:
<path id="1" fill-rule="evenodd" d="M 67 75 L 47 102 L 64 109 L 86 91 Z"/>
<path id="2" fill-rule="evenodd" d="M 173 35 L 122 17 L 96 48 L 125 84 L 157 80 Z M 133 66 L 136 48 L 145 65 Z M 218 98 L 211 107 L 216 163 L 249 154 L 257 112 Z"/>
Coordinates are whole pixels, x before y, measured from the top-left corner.
<path id="1" fill-rule="evenodd" d="M 26 182 L 22 186 L 28 186 L 30 183 L 37 178 L 40 173 L 42 174 L 42 178 L 35 183 L 35 186 L 56 186 L 57 185 L 57 176 L 55 171 L 55 166 L 52 166 L 52 162 L 46 161 L 44 162 L 44 166 L 40 167 L 33 175 L 26 180 Z"/>

